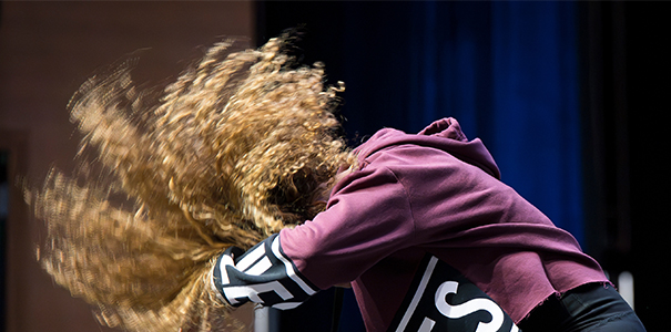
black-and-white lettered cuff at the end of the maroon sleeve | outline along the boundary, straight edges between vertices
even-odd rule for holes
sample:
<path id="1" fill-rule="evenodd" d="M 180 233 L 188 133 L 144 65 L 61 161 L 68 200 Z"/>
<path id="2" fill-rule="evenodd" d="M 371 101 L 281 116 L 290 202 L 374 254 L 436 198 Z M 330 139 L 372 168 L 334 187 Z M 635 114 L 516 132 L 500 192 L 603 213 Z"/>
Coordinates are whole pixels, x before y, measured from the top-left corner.
<path id="1" fill-rule="evenodd" d="M 281 310 L 294 309 L 318 288 L 299 274 L 273 235 L 252 249 L 231 247 L 214 266 L 214 288 L 228 304 L 247 301 Z"/>

